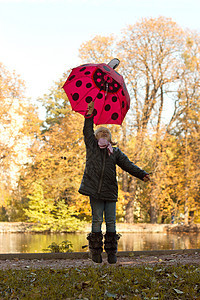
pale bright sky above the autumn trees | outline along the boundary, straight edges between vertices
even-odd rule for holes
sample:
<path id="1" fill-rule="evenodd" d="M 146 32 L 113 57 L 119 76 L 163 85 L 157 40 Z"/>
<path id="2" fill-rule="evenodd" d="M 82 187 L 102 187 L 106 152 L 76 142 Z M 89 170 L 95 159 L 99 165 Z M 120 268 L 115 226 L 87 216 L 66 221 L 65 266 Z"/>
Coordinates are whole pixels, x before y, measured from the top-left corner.
<path id="1" fill-rule="evenodd" d="M 0 0 L 0 62 L 21 76 L 34 101 L 80 64 L 81 44 L 96 35 L 159 16 L 200 31 L 199 12 L 199 0 Z"/>

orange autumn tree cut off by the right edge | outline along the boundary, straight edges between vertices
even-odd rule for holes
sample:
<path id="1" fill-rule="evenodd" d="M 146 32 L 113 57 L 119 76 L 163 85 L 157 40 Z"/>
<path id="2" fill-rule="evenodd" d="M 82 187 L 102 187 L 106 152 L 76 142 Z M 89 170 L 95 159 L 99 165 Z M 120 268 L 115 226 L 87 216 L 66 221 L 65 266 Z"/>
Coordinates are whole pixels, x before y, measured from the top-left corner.
<path id="1" fill-rule="evenodd" d="M 180 176 L 182 204 L 185 223 L 199 204 L 199 149 L 200 149 L 200 36 L 187 32 L 185 50 L 182 54 L 184 68 L 178 87 L 175 126 L 171 128 L 178 138 L 182 156 L 182 176 Z M 180 196 L 177 195 L 178 198 Z"/>

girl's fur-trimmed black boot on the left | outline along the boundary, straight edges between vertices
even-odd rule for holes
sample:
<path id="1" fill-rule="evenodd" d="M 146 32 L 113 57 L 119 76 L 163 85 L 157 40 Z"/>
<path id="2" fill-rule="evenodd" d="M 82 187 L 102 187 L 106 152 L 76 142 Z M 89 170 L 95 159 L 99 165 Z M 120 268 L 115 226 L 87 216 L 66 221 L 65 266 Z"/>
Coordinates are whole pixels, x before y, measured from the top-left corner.
<path id="1" fill-rule="evenodd" d="M 96 263 L 102 263 L 103 234 L 101 232 L 91 232 L 88 234 L 87 240 L 89 241 L 92 260 Z"/>

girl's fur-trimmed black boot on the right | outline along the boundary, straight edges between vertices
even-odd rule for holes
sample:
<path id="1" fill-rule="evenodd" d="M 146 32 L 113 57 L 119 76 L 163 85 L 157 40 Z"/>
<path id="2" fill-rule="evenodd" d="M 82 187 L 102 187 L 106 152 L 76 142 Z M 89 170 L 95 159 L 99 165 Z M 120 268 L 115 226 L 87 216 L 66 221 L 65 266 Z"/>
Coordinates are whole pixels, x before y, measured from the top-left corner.
<path id="1" fill-rule="evenodd" d="M 104 249 L 108 255 L 109 264 L 115 264 L 117 262 L 117 241 L 120 239 L 120 235 L 116 232 L 106 232 Z"/>

